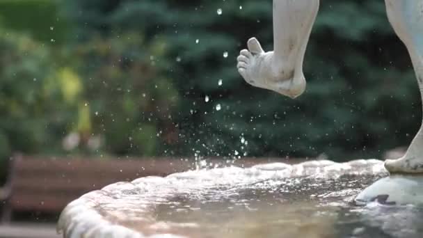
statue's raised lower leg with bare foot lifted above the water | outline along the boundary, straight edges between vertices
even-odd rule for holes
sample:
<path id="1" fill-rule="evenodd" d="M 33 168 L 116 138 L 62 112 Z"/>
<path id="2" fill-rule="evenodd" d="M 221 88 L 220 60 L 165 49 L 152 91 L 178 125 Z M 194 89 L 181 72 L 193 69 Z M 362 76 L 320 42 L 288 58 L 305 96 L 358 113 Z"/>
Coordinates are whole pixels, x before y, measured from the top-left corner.
<path id="1" fill-rule="evenodd" d="M 303 58 L 318 10 L 319 0 L 273 0 L 274 51 L 251 38 L 238 57 L 248 84 L 292 98 L 304 92 Z"/>

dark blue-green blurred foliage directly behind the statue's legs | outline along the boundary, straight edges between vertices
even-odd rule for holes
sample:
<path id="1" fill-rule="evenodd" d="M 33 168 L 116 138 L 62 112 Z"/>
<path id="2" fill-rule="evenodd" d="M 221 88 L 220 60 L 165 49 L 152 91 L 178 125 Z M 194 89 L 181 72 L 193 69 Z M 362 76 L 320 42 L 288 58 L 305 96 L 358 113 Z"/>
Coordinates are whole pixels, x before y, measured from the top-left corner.
<path id="1" fill-rule="evenodd" d="M 182 97 L 179 111 L 171 114 L 179 136 L 169 151 L 310 157 L 324 152 L 333 159 L 351 159 L 406 145 L 420 125 L 420 97 L 409 57 L 383 4 L 321 3 L 305 58 L 308 90 L 298 100 L 252 88 L 235 69 L 238 51 L 250 36 L 257 35 L 271 49 L 271 1 L 74 0 L 65 1 L 65 9 L 80 39 L 90 39 L 93 32 L 106 39 L 142 32 L 146 45 L 166 46 L 160 54 L 134 49 L 129 59 L 161 62 L 150 80 L 172 79 L 166 84 Z M 120 82 L 111 85 L 125 88 Z M 131 90 L 134 95 L 145 92 Z M 125 116 L 132 120 L 135 115 Z M 133 128 L 123 120 L 116 124 Z"/>

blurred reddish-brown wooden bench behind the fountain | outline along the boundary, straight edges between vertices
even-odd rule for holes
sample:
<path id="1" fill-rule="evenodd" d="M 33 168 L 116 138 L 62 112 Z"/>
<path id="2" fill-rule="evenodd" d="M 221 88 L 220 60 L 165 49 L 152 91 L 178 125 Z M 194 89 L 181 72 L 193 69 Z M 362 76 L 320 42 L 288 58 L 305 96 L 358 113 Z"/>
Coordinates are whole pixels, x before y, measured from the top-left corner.
<path id="1" fill-rule="evenodd" d="M 176 162 L 176 163 L 174 163 Z M 2 222 L 13 212 L 58 214 L 72 200 L 119 181 L 165 176 L 188 170 L 190 164 L 175 159 L 56 159 L 15 156 L 8 180 L 0 188 Z"/>

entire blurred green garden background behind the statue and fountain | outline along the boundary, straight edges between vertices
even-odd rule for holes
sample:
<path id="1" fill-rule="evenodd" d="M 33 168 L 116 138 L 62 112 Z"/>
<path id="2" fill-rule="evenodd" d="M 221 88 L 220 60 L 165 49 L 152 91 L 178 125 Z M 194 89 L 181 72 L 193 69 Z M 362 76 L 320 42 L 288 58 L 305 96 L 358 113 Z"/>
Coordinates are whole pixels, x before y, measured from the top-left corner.
<path id="1" fill-rule="evenodd" d="M 344 161 L 410 143 L 420 94 L 383 1 L 321 3 L 296 100 L 248 86 L 235 67 L 251 36 L 271 49 L 271 10 L 271 0 L 1 0 L 0 160 Z"/>

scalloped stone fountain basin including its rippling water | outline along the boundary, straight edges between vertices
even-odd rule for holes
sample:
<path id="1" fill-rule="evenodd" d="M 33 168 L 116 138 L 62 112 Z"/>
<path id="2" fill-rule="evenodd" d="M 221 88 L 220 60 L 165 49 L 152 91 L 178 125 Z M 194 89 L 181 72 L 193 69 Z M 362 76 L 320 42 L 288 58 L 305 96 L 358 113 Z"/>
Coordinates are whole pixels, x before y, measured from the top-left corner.
<path id="1" fill-rule="evenodd" d="M 147 177 L 88 193 L 59 227 L 67 237 L 423 237 L 420 208 L 352 203 L 385 175 L 381 161 L 312 161 Z"/>

